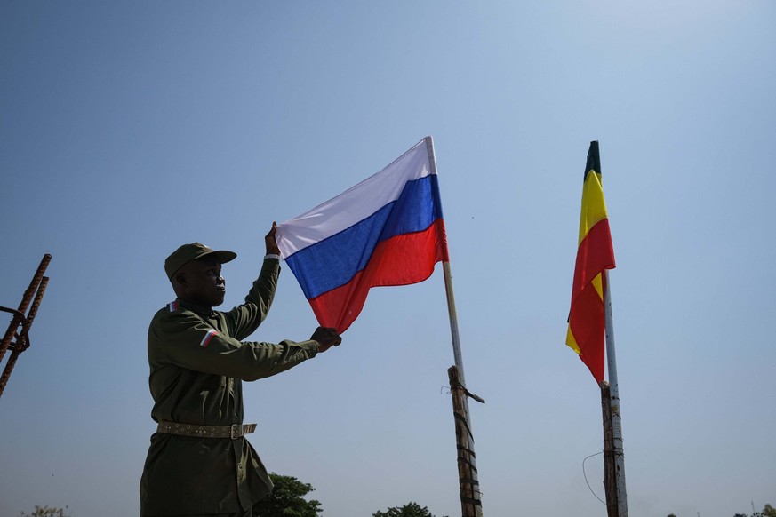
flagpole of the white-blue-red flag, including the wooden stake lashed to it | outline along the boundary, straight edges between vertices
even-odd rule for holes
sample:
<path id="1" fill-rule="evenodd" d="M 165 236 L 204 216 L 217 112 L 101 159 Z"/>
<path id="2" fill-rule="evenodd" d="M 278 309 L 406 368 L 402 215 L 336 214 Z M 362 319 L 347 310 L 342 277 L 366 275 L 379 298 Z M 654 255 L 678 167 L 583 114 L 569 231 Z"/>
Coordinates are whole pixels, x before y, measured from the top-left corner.
<path id="1" fill-rule="evenodd" d="M 431 172 L 436 174 L 436 155 L 434 154 L 434 140 L 431 137 L 426 137 L 426 148 L 428 150 L 428 161 L 431 163 Z M 460 335 L 458 332 L 458 315 L 455 311 L 455 296 L 452 294 L 452 273 L 450 270 L 450 262 L 443 261 L 442 269 L 444 272 L 444 291 L 447 295 L 447 313 L 450 316 L 450 333 L 452 336 L 452 354 L 455 359 L 455 377 L 457 377 L 456 385 L 460 383 L 460 386 L 453 386 L 453 374 L 451 375 L 451 392 L 453 394 L 453 412 L 456 413 L 455 408 L 456 400 L 462 399 L 463 402 L 463 415 L 466 431 L 468 434 L 468 440 L 466 440 L 467 446 L 461 449 L 460 444 L 458 454 L 459 465 L 459 477 L 460 477 L 460 501 L 461 511 L 463 517 L 482 517 L 483 507 L 480 499 L 479 479 L 477 476 L 476 467 L 476 455 L 474 451 L 474 434 L 471 426 L 471 418 L 468 410 L 468 398 L 469 396 L 475 397 L 478 402 L 484 402 L 476 395 L 469 394 L 466 388 L 466 377 L 463 372 L 463 358 L 460 354 Z M 450 370 L 448 370 L 450 373 Z M 467 396 L 460 396 L 458 399 L 455 397 L 456 390 L 460 391 Z M 458 433 L 459 427 L 456 424 L 456 433 Z M 461 473 L 465 472 L 466 477 L 461 477 Z"/>

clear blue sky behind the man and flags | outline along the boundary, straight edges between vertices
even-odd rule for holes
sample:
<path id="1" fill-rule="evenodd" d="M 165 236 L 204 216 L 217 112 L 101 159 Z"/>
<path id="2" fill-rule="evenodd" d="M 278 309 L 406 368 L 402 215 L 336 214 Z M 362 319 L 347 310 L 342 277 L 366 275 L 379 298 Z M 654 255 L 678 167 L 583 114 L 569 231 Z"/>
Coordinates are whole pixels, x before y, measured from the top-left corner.
<path id="1" fill-rule="evenodd" d="M 0 306 L 49 289 L 0 399 L 0 514 L 134 516 L 146 333 L 180 243 L 239 254 L 435 138 L 484 512 L 598 517 L 596 383 L 564 345 L 601 145 L 631 515 L 776 504 L 776 4 L 0 3 Z M 246 385 L 268 468 L 327 517 L 460 514 L 441 267 Z M 316 322 L 285 268 L 252 337 Z M 588 481 L 603 496 L 603 461 Z"/>

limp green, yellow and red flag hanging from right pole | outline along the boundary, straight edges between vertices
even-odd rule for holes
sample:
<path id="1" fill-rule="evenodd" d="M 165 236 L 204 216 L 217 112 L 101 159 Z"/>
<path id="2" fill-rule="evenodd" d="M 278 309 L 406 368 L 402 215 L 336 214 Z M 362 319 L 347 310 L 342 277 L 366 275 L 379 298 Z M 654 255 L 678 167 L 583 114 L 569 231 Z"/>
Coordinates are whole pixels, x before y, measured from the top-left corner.
<path id="1" fill-rule="evenodd" d="M 580 242 L 566 345 L 580 354 L 598 383 L 604 380 L 604 270 L 613 268 L 614 249 L 601 187 L 601 158 L 595 141 L 590 142 L 582 187 Z"/>

